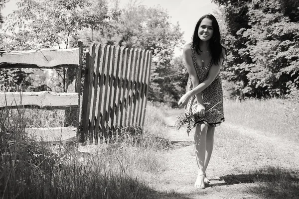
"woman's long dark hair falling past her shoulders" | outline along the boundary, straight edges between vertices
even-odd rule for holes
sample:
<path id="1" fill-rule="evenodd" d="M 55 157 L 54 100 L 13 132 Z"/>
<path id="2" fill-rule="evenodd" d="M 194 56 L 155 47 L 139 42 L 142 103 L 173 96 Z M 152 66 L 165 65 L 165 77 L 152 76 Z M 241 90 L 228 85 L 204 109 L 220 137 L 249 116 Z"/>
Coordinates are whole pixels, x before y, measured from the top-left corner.
<path id="1" fill-rule="evenodd" d="M 217 65 L 217 64 L 222 64 L 220 63 L 220 59 L 224 58 L 226 56 L 227 50 L 224 46 L 221 45 L 220 41 L 221 41 L 221 36 L 220 36 L 220 30 L 219 30 L 219 25 L 218 22 L 215 18 L 215 16 L 213 16 L 212 14 L 205 14 L 202 17 L 200 17 L 200 19 L 197 21 L 195 29 L 194 29 L 194 33 L 192 36 L 192 43 L 193 43 L 193 47 L 195 49 L 195 51 L 199 54 L 201 51 L 199 49 L 199 43 L 200 43 L 200 38 L 198 36 L 198 28 L 199 25 L 201 23 L 201 21 L 204 18 L 208 18 L 210 20 L 212 20 L 212 26 L 213 26 L 213 36 L 210 39 L 209 42 L 209 48 L 211 51 L 211 56 L 212 56 L 212 63 Z M 225 54 L 222 54 L 222 50 L 225 50 Z"/>

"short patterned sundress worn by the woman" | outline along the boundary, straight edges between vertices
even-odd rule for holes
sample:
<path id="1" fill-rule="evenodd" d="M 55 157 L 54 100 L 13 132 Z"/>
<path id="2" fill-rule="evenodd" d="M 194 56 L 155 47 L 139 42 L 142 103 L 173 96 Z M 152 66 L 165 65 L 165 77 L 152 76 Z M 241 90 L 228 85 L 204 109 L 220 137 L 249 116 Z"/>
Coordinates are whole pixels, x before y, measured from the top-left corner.
<path id="1" fill-rule="evenodd" d="M 212 61 L 210 61 L 210 63 L 206 67 L 200 66 L 196 60 L 195 49 L 193 47 L 193 44 L 189 43 L 189 45 L 192 50 L 193 65 L 195 67 L 199 83 L 201 83 L 204 80 L 206 80 L 209 70 L 212 66 Z M 189 76 L 188 83 L 186 86 L 186 93 L 192 89 L 192 79 Z M 197 100 L 195 95 L 192 96 L 191 99 L 188 101 L 187 105 L 185 105 L 185 115 L 187 117 L 190 117 L 190 115 L 192 116 L 190 117 L 191 120 L 188 120 L 189 125 L 191 124 L 190 127 L 194 128 L 202 122 L 209 126 L 219 126 L 224 121 L 223 91 L 221 78 L 219 74 L 216 76 L 212 84 L 201 92 L 201 95 L 206 110 L 206 114 L 204 117 L 199 117 L 196 114 Z"/>

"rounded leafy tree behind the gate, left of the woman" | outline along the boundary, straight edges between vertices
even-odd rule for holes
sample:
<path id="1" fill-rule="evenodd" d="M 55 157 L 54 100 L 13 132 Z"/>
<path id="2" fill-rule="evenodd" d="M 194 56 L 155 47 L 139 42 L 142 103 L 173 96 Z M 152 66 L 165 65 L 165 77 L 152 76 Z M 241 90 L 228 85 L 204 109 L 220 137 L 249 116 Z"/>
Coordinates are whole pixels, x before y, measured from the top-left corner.
<path id="1" fill-rule="evenodd" d="M 159 6 L 133 4 L 121 10 L 118 20 L 111 21 L 109 26 L 94 31 L 92 35 L 91 38 L 89 29 L 82 31 L 79 37 L 88 44 L 95 41 L 151 50 L 153 59 L 149 100 L 177 100 L 175 92 L 171 92 L 175 89 L 168 84 L 166 77 L 177 74 L 177 71 L 172 70 L 173 51 L 175 47 L 182 46 L 183 40 L 179 25 L 169 22 L 166 10 Z M 168 92 L 164 92 L 166 88 Z M 166 94 L 170 95 L 169 98 L 166 98 Z"/>

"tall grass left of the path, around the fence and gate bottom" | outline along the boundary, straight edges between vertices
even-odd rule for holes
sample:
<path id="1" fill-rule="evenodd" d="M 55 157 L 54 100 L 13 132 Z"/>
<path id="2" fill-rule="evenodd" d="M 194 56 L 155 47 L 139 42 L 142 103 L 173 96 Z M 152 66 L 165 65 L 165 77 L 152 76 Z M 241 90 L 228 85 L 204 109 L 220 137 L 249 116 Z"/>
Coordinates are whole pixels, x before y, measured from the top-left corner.
<path id="1" fill-rule="evenodd" d="M 143 134 L 127 132 L 119 142 L 79 150 L 26 137 L 26 125 L 61 126 L 63 113 L 53 114 L 0 110 L 0 198 L 147 199 L 156 194 L 142 178 L 145 172 L 155 175 L 165 167 L 160 154 L 168 141 L 156 107 L 148 105 Z M 40 121 L 44 119 L 50 122 Z"/>

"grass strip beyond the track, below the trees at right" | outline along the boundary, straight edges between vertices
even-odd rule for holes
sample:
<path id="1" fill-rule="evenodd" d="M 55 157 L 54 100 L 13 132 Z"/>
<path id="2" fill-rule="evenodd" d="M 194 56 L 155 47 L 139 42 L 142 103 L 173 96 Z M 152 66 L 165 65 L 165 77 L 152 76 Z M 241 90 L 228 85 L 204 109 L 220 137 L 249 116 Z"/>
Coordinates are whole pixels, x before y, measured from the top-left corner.
<path id="1" fill-rule="evenodd" d="M 280 99 L 224 103 L 225 120 L 299 142 L 299 104 Z"/>

